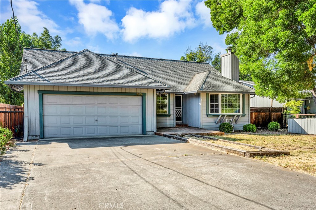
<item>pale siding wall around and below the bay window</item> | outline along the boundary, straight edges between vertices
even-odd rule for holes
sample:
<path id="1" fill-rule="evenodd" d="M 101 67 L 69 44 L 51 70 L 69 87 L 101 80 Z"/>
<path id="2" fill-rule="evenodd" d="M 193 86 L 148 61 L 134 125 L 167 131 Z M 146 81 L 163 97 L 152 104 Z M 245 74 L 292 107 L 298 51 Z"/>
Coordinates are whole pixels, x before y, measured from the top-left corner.
<path id="1" fill-rule="evenodd" d="M 200 128 L 210 128 L 211 130 L 218 130 L 220 122 L 216 124 L 216 117 L 208 117 L 206 115 L 206 94 L 201 93 L 201 127 Z M 240 117 L 238 124 L 234 125 L 234 130 L 242 130 L 243 126 L 250 123 L 250 94 L 245 94 L 245 114 L 246 116 Z M 234 116 L 227 116 L 226 119 L 233 119 Z M 226 119 L 224 122 L 226 122 Z"/>

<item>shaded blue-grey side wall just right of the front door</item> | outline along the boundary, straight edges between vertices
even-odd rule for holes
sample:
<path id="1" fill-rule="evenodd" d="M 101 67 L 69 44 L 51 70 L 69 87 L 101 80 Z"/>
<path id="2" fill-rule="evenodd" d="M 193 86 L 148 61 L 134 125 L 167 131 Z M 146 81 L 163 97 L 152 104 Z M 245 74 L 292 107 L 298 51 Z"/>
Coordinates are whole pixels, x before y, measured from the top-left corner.
<path id="1" fill-rule="evenodd" d="M 184 124 L 188 124 L 190 127 L 200 128 L 201 126 L 201 103 L 200 93 L 184 94 L 182 96 L 182 120 Z"/>

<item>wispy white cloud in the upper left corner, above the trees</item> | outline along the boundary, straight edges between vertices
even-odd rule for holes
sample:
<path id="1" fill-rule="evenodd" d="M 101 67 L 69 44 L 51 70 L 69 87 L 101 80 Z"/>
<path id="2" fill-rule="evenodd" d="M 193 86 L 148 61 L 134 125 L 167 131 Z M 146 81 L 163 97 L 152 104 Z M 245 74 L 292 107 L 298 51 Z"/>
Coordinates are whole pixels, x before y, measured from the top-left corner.
<path id="1" fill-rule="evenodd" d="M 11 9 L 11 8 L 10 8 Z M 50 18 L 48 18 L 42 11 L 38 9 L 38 3 L 34 1 L 14 1 L 14 14 L 17 16 L 21 28 L 28 34 L 36 32 L 38 35 L 43 32 L 46 27 L 52 34 L 64 34 L 58 30 L 58 25 Z M 9 14 L 9 17 L 12 16 Z"/>

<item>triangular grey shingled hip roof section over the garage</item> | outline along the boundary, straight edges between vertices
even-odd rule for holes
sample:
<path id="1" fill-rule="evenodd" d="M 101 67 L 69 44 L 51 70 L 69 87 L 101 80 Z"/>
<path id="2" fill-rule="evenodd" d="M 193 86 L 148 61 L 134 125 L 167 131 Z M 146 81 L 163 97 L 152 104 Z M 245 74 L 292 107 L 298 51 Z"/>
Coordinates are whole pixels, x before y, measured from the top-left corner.
<path id="1" fill-rule="evenodd" d="M 68 57 L 37 70 L 23 71 L 21 75 L 8 81 L 11 84 L 15 82 L 61 83 L 60 85 L 63 83 L 98 84 L 104 87 L 132 86 L 170 89 L 167 85 L 142 72 L 126 68 L 114 60 L 104 58 L 88 49 L 68 54 Z"/>

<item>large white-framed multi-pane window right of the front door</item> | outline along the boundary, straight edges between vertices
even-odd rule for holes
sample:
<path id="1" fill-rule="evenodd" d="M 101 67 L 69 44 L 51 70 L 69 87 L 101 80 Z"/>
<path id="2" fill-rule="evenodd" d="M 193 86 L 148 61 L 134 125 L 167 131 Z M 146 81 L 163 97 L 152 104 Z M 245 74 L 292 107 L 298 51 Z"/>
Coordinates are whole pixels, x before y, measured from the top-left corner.
<path id="1" fill-rule="evenodd" d="M 209 94 L 209 113 L 241 114 L 241 94 Z"/>

